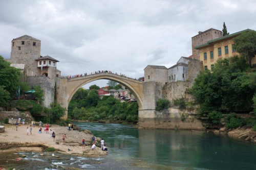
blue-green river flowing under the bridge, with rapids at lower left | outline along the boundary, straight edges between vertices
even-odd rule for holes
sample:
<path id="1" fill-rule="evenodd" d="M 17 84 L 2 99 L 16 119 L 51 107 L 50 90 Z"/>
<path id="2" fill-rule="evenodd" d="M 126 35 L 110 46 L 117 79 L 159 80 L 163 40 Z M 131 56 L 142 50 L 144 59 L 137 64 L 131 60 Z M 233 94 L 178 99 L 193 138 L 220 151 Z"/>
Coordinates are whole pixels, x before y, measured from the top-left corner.
<path id="1" fill-rule="evenodd" d="M 19 153 L 27 156 L 26 163 L 12 160 L 9 164 L 24 169 L 256 169 L 256 145 L 226 135 L 121 124 L 75 124 L 103 138 L 108 156 L 83 158 L 55 153 L 61 157 L 58 160 L 47 152 L 44 157 L 40 153 Z M 0 161 L 8 157 L 15 155 L 0 155 Z"/>

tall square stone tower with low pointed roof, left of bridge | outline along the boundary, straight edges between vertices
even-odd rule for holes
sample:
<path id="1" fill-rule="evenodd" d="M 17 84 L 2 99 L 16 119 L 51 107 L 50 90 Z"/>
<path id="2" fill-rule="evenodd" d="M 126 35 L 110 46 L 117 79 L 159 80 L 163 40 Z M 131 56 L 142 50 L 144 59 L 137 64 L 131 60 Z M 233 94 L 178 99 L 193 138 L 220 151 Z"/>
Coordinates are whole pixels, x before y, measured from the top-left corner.
<path id="1" fill-rule="evenodd" d="M 41 41 L 28 35 L 12 40 L 11 59 L 13 64 L 25 64 L 27 76 L 40 74 L 36 59 L 40 58 Z"/>

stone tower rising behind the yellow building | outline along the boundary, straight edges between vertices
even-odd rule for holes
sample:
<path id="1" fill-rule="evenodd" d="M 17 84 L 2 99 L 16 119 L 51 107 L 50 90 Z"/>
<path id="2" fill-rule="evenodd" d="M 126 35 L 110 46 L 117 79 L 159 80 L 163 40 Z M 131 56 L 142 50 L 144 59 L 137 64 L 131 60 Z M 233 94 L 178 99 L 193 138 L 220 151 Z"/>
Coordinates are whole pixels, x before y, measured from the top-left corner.
<path id="1" fill-rule="evenodd" d="M 205 44 L 207 41 L 222 37 L 222 32 L 216 29 L 209 29 L 204 32 L 199 31 L 198 35 L 191 38 L 192 40 L 192 55 L 194 59 L 200 60 L 199 50 L 194 49 L 195 46 Z"/>

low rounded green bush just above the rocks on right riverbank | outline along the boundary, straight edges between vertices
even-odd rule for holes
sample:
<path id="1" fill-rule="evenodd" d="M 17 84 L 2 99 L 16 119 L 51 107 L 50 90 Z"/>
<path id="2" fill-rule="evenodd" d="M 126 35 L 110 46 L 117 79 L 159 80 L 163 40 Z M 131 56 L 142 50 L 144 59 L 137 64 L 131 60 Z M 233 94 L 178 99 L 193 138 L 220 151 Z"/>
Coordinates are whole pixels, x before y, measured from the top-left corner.
<path id="1" fill-rule="evenodd" d="M 238 117 L 236 113 L 231 113 L 225 117 L 225 120 L 227 128 L 238 128 L 246 125 L 246 120 L 242 117 Z"/>

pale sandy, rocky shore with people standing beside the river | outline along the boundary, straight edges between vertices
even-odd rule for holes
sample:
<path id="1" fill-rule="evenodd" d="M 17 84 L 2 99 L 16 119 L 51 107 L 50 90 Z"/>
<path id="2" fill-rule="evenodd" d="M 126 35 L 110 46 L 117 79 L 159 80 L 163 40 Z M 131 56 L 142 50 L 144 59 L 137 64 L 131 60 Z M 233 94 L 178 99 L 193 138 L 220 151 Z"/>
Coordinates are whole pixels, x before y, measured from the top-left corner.
<path id="1" fill-rule="evenodd" d="M 0 153 L 13 151 L 40 152 L 45 148 L 53 147 L 60 153 L 77 156 L 96 157 L 108 154 L 98 147 L 95 150 L 91 149 L 92 134 L 68 131 L 68 127 L 53 125 L 50 127 L 52 131 L 49 130 L 48 134 L 44 132 L 44 128 L 42 128 L 42 133 L 39 134 L 39 128 L 35 126 L 32 127 L 32 135 L 30 135 L 30 132 L 27 135 L 27 127 L 30 128 L 30 125 L 19 125 L 16 131 L 15 125 L 6 125 L 5 132 L 0 133 Z M 55 141 L 51 137 L 52 132 L 56 134 Z M 62 135 L 65 133 L 67 135 L 66 144 L 63 144 Z M 82 149 L 82 138 L 86 140 L 85 149 Z M 96 137 L 96 140 L 100 140 L 100 138 Z"/>

